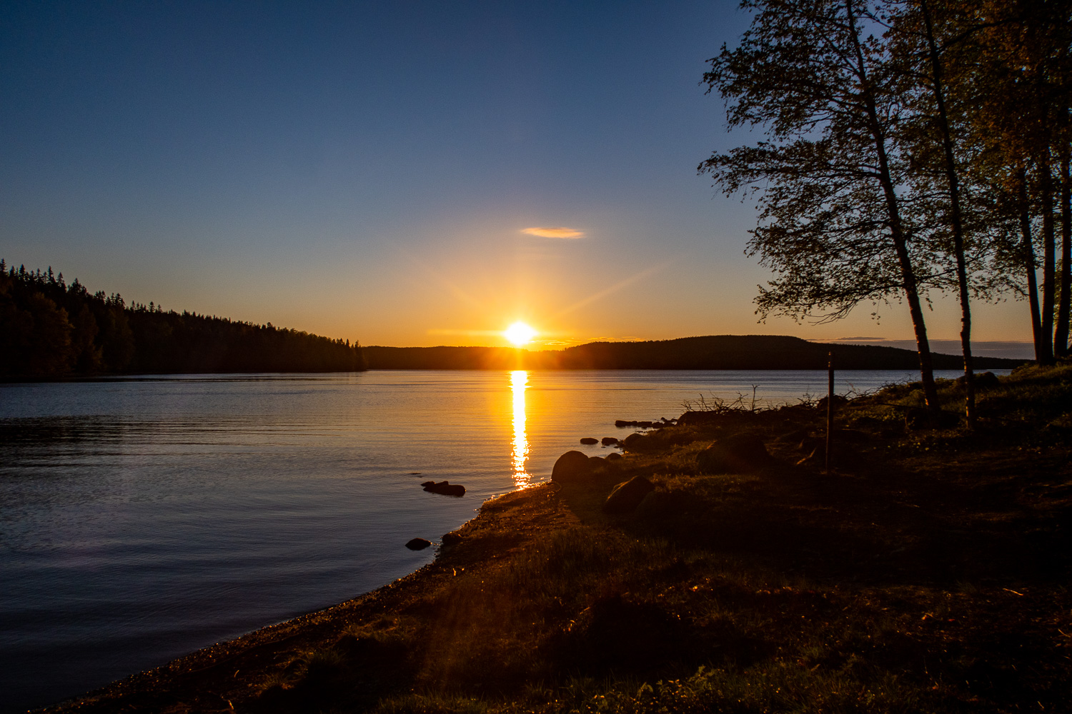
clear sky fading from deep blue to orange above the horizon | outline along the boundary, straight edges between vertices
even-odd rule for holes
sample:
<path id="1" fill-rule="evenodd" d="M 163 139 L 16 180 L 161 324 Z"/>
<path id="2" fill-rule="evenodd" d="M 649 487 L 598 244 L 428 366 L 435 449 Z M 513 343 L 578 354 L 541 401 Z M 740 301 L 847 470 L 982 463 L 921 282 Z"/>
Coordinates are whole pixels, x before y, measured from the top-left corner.
<path id="1" fill-rule="evenodd" d="M 746 139 L 699 86 L 735 6 L 0 3 L 0 257 L 364 345 L 910 338 L 896 303 L 757 324 L 755 207 L 696 172 Z"/>

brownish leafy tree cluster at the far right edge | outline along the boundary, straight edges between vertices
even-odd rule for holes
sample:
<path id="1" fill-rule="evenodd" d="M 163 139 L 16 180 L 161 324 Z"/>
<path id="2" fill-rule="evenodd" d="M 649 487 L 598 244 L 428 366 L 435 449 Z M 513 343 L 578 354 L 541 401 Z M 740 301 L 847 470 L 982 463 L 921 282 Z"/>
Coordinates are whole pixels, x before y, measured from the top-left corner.
<path id="1" fill-rule="evenodd" d="M 951 93 L 971 107 L 963 128 L 982 147 L 981 183 L 996 188 L 1004 195 L 1007 206 L 1016 208 L 1016 246 L 1008 246 L 1004 253 L 1018 256 L 1021 261 L 1036 359 L 1048 363 L 1055 353 L 1062 354 L 1068 348 L 1067 303 L 1072 289 L 1072 276 L 1063 268 L 1072 249 L 1066 239 L 1072 227 L 1067 178 L 1072 2 L 944 0 L 942 4 L 959 5 L 962 12 L 972 16 L 969 31 L 973 57 L 963 63 Z M 1014 199 L 1009 200 L 1011 197 Z M 1059 276 L 1058 214 L 1062 253 Z"/>

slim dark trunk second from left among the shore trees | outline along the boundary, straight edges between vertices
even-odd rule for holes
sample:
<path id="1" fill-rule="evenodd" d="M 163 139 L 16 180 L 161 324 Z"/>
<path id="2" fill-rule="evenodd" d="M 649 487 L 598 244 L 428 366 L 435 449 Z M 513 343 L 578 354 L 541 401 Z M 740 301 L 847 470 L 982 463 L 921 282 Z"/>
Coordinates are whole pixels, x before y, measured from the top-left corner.
<path id="1" fill-rule="evenodd" d="M 949 127 L 949 115 L 946 111 L 946 90 L 942 86 L 941 58 L 935 43 L 934 26 L 930 22 L 930 11 L 926 0 L 920 1 L 923 10 L 923 20 L 927 31 L 927 49 L 930 55 L 932 91 L 938 107 L 938 126 L 941 130 L 942 149 L 946 158 L 946 181 L 949 184 L 950 223 L 953 229 L 953 253 L 956 258 L 956 285 L 961 299 L 961 351 L 964 353 L 965 400 L 964 415 L 968 427 L 976 425 L 976 379 L 971 364 L 971 303 L 968 293 L 968 265 L 964 248 L 964 222 L 961 213 L 961 183 L 956 176 L 956 164 L 953 159 L 953 136 Z"/>

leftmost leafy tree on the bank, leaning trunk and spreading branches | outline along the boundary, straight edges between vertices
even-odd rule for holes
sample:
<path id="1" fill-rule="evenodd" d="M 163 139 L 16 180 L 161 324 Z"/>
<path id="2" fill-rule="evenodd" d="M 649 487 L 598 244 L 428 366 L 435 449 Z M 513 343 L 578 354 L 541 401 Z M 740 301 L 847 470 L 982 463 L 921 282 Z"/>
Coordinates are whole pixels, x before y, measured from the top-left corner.
<path id="1" fill-rule="evenodd" d="M 866 0 L 744 0 L 753 22 L 723 47 L 703 82 L 727 104 L 730 127 L 765 140 L 700 165 L 728 194 L 759 200 L 748 249 L 776 273 L 758 313 L 837 319 L 861 301 L 904 298 L 920 355 L 924 398 L 937 392 L 921 293 L 938 285 L 933 247 L 914 240 L 898 194 L 908 157 L 900 97 L 910 88 Z"/>

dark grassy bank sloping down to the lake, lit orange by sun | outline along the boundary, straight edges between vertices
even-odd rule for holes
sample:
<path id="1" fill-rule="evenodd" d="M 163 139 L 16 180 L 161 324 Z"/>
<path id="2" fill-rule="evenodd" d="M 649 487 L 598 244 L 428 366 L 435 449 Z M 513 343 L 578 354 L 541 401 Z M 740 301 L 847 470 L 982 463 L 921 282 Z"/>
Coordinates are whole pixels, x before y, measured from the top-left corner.
<path id="1" fill-rule="evenodd" d="M 55 711 L 1062 711 L 1072 365 L 987 385 L 976 431 L 921 399 L 839 405 L 830 474 L 823 405 L 709 404 L 488 502 L 389 587 Z M 741 434 L 772 458 L 700 472 Z M 637 475 L 655 490 L 605 514 Z"/>

